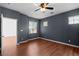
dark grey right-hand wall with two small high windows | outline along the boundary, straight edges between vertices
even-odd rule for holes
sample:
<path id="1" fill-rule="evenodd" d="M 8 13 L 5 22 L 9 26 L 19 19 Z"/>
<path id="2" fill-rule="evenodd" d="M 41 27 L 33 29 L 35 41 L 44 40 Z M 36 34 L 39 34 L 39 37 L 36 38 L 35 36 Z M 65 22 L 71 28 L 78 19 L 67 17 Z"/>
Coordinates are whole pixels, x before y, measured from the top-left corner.
<path id="1" fill-rule="evenodd" d="M 41 20 L 40 36 L 79 46 L 79 24 L 68 24 L 68 17 L 75 15 L 79 15 L 79 9 Z M 44 21 L 48 21 L 48 27 L 43 26 Z"/>

